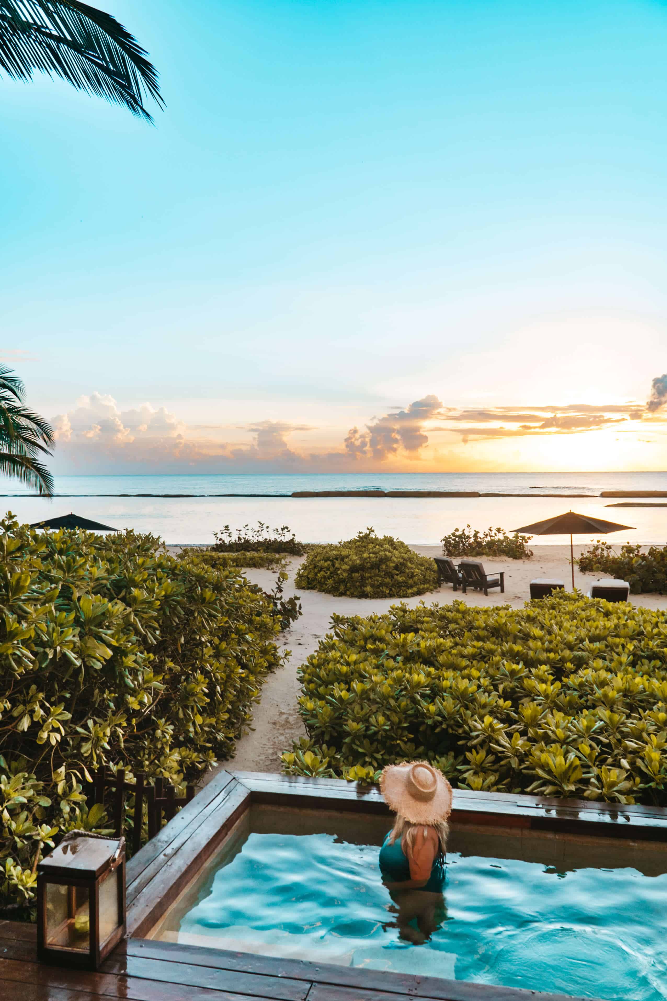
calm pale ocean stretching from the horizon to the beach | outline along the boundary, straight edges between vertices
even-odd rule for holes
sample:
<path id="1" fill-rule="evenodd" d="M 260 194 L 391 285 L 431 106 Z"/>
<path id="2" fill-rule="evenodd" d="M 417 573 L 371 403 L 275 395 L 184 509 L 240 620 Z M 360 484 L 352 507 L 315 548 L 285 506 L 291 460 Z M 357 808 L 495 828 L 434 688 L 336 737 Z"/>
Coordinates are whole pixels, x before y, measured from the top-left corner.
<path id="1" fill-rule="evenodd" d="M 475 490 L 509 496 L 290 496 L 298 490 L 361 489 Z M 258 521 L 271 527 L 287 525 L 303 542 L 337 542 L 373 527 L 379 534 L 396 536 L 406 543 L 435 545 L 445 534 L 468 524 L 477 529 L 493 526 L 512 531 L 570 509 L 633 527 L 632 531 L 608 536 L 614 544 L 667 543 L 667 508 L 609 507 L 616 502 L 600 497 L 603 490 L 667 493 L 667 472 L 58 476 L 53 500 L 31 495 L 12 481 L 0 481 L 4 510 L 23 522 L 74 512 L 113 528 L 152 532 L 174 545 L 207 545 L 213 542 L 213 533 L 225 525 L 236 529 Z M 662 503 L 667 504 L 667 497 Z M 562 545 L 565 541 L 559 536 L 547 536 L 539 543 Z M 592 541 L 593 537 L 577 540 Z"/>

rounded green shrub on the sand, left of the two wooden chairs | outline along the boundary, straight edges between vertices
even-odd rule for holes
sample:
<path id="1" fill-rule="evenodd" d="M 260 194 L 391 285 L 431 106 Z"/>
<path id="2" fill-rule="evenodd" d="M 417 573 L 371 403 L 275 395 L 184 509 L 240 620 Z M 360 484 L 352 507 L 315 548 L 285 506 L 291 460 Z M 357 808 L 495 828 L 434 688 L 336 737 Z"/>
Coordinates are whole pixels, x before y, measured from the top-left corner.
<path id="1" fill-rule="evenodd" d="M 297 588 L 337 598 L 409 598 L 438 587 L 433 560 L 418 556 L 391 536 L 376 536 L 373 529 L 346 543 L 318 546 L 294 581 Z"/>

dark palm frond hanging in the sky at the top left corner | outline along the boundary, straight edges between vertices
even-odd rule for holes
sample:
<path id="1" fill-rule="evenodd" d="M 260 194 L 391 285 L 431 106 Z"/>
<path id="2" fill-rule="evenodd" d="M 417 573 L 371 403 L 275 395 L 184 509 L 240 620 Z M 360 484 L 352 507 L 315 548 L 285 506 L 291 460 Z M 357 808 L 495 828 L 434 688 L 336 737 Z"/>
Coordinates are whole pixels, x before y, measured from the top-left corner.
<path id="1" fill-rule="evenodd" d="M 35 70 L 127 107 L 152 122 L 158 74 L 122 24 L 80 0 L 0 0 L 0 70 L 30 80 Z"/>

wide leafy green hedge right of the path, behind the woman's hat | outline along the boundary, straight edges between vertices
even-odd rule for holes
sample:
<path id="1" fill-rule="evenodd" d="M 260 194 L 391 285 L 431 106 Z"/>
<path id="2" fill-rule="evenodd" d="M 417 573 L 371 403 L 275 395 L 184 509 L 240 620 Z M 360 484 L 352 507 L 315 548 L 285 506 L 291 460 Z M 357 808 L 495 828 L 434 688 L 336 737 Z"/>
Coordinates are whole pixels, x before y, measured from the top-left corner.
<path id="1" fill-rule="evenodd" d="M 664 613 L 557 592 L 332 625 L 300 670 L 288 773 L 373 782 L 426 759 L 473 790 L 667 806 Z"/>

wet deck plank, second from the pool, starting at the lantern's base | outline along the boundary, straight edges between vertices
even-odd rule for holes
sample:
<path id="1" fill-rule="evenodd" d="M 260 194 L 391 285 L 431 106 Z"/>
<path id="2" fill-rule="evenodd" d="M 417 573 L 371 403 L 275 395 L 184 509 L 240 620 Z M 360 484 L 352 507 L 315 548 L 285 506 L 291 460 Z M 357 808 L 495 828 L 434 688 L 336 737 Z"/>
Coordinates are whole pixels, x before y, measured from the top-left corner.
<path id="1" fill-rule="evenodd" d="M 182 984 L 225 990 L 251 997 L 275 998 L 276 1001 L 305 1001 L 310 983 L 287 977 L 225 970 L 194 963 L 173 963 L 143 956 L 114 953 L 102 965 L 105 973 L 140 977 L 160 984 Z"/>

